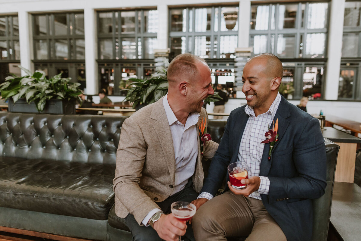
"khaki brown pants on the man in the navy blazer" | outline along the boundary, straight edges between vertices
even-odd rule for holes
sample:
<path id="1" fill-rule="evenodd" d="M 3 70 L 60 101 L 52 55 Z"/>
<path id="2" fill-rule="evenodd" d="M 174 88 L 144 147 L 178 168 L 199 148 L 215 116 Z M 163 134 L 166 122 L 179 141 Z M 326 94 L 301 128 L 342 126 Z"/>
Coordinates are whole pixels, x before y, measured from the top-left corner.
<path id="1" fill-rule="evenodd" d="M 287 241 L 282 229 L 261 200 L 227 191 L 210 199 L 192 219 L 196 241 L 226 241 L 247 236 L 246 241 Z"/>

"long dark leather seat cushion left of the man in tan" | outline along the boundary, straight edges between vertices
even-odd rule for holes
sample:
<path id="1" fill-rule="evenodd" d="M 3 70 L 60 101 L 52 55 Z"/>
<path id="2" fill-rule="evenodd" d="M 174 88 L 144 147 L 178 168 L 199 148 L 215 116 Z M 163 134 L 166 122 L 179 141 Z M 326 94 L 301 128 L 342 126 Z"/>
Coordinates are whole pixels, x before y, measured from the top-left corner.
<path id="1" fill-rule="evenodd" d="M 0 206 L 105 220 L 115 165 L 0 157 Z"/>

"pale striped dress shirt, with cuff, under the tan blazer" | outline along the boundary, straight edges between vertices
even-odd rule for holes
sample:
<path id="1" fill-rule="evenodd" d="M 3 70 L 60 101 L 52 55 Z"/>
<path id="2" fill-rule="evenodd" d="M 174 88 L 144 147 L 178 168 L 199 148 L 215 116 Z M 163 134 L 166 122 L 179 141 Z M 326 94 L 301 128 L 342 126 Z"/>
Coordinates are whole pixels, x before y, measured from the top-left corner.
<path id="1" fill-rule="evenodd" d="M 170 132 L 173 140 L 175 157 L 174 189 L 170 195 L 178 193 L 186 186 L 188 179 L 193 176 L 198 156 L 199 138 L 197 137 L 196 124 L 199 120 L 199 113 L 190 113 L 186 124 L 183 125 L 175 117 L 168 103 L 168 93 L 163 99 L 163 106 L 169 122 Z M 155 208 L 148 213 L 142 223 L 148 226 L 149 219 L 157 212 Z"/>

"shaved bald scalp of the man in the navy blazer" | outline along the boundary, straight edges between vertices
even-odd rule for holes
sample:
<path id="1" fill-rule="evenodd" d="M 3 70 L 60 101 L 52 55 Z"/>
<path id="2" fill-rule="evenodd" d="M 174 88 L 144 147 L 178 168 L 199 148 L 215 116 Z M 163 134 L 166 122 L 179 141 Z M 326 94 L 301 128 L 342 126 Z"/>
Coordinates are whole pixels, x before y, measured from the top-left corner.
<path id="1" fill-rule="evenodd" d="M 260 55 L 256 55 L 248 60 L 247 63 L 251 63 L 253 61 L 266 61 L 266 69 L 265 72 L 272 77 L 280 77 L 282 79 L 283 76 L 283 66 L 282 62 L 278 59 L 277 56 L 271 53 L 261 53 Z"/>

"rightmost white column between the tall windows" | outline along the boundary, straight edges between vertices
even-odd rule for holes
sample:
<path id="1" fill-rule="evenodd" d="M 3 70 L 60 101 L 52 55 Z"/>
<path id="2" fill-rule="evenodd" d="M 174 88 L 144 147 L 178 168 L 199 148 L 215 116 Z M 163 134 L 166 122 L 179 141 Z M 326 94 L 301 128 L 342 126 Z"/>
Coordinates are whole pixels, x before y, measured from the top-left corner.
<path id="1" fill-rule="evenodd" d="M 345 0 L 332 0 L 327 44 L 325 99 L 338 99 Z"/>

